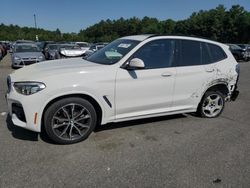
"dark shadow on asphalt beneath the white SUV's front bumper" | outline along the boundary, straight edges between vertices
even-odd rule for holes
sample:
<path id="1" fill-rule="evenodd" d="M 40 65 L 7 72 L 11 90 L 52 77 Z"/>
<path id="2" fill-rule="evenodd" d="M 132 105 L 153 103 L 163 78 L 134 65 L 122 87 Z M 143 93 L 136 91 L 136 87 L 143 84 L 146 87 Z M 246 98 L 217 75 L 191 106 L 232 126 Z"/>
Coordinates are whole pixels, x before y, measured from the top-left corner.
<path id="1" fill-rule="evenodd" d="M 6 124 L 14 138 L 19 140 L 38 141 L 38 133 L 15 126 L 12 123 L 10 115 L 6 118 Z"/>

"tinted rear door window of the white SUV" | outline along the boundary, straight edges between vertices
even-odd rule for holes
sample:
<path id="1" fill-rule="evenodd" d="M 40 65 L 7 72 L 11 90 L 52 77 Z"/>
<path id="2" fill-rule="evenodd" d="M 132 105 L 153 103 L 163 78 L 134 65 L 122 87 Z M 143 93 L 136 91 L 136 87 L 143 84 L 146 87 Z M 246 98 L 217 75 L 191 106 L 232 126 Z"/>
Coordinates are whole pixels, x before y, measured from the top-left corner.
<path id="1" fill-rule="evenodd" d="M 178 66 L 202 64 L 200 42 L 192 40 L 181 40 L 179 44 Z"/>

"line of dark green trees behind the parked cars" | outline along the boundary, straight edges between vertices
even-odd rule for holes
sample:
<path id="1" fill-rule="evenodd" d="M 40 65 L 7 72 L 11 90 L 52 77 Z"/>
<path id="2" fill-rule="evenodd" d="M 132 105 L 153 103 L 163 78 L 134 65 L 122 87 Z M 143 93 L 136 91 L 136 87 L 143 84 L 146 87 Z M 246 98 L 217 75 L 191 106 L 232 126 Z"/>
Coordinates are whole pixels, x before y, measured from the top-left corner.
<path id="1" fill-rule="evenodd" d="M 144 17 L 102 20 L 79 33 L 61 33 L 44 29 L 0 25 L 0 40 L 40 40 L 110 42 L 116 38 L 136 34 L 166 34 L 204 37 L 227 43 L 250 43 L 250 12 L 240 5 L 226 9 L 223 5 L 194 12 L 187 19 L 158 20 Z"/>

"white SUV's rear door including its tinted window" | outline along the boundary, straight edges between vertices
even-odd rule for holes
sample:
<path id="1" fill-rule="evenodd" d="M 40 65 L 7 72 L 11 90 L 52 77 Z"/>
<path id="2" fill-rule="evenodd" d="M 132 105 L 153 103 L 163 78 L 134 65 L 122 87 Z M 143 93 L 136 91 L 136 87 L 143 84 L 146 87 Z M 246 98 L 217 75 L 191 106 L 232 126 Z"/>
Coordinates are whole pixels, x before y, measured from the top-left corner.
<path id="1" fill-rule="evenodd" d="M 202 64 L 200 41 L 178 40 L 174 104 L 176 110 L 193 110 L 197 107 L 200 93 L 210 76 Z"/>

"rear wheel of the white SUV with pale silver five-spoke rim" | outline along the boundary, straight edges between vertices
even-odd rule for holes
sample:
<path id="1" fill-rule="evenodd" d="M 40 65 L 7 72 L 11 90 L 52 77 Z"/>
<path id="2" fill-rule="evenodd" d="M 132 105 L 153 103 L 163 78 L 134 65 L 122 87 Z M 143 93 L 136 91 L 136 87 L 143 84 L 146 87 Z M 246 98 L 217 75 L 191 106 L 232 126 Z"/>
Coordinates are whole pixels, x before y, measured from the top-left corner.
<path id="1" fill-rule="evenodd" d="M 224 110 L 225 96 L 219 91 L 207 91 L 201 99 L 197 114 L 203 118 L 216 118 Z"/>

